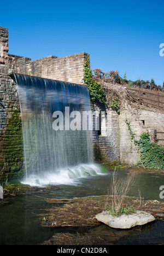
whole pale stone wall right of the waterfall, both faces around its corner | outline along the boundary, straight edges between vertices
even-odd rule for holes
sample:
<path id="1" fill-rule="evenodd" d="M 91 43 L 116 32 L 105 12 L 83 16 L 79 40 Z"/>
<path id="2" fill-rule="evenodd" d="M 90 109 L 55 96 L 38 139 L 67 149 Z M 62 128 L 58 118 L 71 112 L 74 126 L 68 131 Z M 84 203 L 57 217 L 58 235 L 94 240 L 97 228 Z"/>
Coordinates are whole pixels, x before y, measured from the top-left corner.
<path id="1" fill-rule="evenodd" d="M 119 87 L 119 85 L 117 86 Z M 123 94 L 124 92 L 122 92 Z M 92 111 L 97 110 L 99 113 L 103 111 L 106 116 L 102 122 L 101 134 L 98 131 L 93 131 L 93 143 L 99 150 L 99 154 L 102 154 L 101 157 L 105 157 L 106 160 L 135 165 L 140 162 L 140 155 L 138 147 L 132 141 L 126 120 L 130 122 L 136 139 L 139 140 L 143 132 L 149 132 L 151 142 L 154 142 L 154 130 L 164 132 L 164 113 L 162 109 L 161 111 L 151 107 L 144 109 L 144 106 L 130 104 L 124 98 L 122 102 L 124 102 L 124 106 L 121 107 L 119 115 L 102 104 L 91 104 Z M 160 138 L 164 139 L 164 135 L 157 133 L 157 139 Z M 164 146 L 164 141 L 157 143 Z"/>

